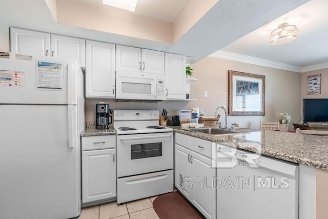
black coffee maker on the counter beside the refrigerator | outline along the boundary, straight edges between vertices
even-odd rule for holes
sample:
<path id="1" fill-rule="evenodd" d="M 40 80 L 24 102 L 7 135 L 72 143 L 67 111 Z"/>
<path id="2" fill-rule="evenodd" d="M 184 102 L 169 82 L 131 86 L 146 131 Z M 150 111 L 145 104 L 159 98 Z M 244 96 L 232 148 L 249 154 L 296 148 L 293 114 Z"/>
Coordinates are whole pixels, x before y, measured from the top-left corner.
<path id="1" fill-rule="evenodd" d="M 96 104 L 96 128 L 97 129 L 108 129 L 109 124 L 112 124 L 112 112 L 109 109 L 109 104 L 100 102 Z"/>

